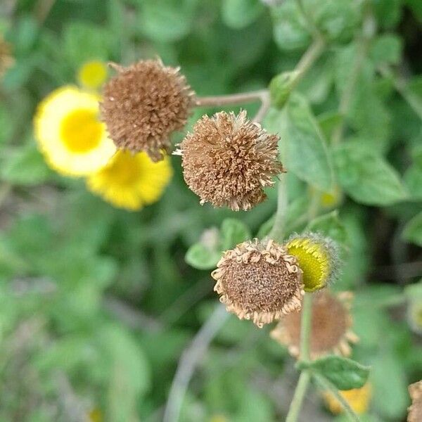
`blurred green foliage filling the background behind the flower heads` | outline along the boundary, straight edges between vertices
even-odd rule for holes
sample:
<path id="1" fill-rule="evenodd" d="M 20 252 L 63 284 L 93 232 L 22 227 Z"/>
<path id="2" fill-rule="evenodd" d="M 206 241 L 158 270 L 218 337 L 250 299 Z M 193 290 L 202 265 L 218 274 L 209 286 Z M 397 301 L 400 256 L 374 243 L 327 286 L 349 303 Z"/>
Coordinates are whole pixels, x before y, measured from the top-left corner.
<path id="1" fill-rule="evenodd" d="M 208 271 L 188 264 L 210 269 L 221 250 L 264 236 L 276 208 L 275 189 L 247 213 L 200 207 L 172 158 L 159 203 L 113 209 L 46 167 L 32 135 L 37 103 L 75 84 L 93 59 L 158 55 L 181 65 L 198 95 L 267 87 L 312 43 L 307 14 L 328 48 L 264 122 L 286 154 L 286 230 L 305 227 L 309 195 L 338 186 L 311 227 L 345 251 L 333 288 L 356 292 L 353 358 L 372 366 L 364 420 L 404 419 L 407 385 L 422 378 L 421 338 L 406 319 L 407 301 L 422 299 L 402 292 L 422 272 L 421 1 L 301 3 L 303 11 L 295 0 L 2 1 L 15 64 L 0 90 L 1 422 L 81 421 L 93 409 L 104 421 L 160 421 L 181 352 L 217 302 Z M 188 127 L 205 111 L 194 110 Z M 330 142 L 340 124 L 344 139 Z M 283 420 L 291 363 L 267 329 L 230 316 L 181 421 Z M 312 420 L 332 420 L 309 394 Z"/>

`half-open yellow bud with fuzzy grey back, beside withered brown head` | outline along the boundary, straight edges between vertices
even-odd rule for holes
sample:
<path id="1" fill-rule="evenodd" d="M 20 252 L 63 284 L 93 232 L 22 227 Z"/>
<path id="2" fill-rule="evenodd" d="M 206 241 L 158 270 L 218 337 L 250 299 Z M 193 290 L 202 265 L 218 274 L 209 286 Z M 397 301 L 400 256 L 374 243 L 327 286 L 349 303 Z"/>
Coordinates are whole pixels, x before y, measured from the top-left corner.
<path id="1" fill-rule="evenodd" d="M 339 274 L 340 251 L 337 243 L 321 234 L 291 236 L 286 249 L 298 258 L 306 292 L 313 292 L 335 281 Z"/>

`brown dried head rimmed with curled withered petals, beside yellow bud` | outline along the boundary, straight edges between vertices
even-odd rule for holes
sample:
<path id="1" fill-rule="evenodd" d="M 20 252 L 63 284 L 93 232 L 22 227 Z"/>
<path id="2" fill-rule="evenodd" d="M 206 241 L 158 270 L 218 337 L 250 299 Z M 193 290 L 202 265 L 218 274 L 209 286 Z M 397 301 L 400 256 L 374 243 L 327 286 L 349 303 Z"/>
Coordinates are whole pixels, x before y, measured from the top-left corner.
<path id="1" fill-rule="evenodd" d="M 301 307 L 302 271 L 274 241 L 245 241 L 224 252 L 212 271 L 220 301 L 259 327 Z"/>

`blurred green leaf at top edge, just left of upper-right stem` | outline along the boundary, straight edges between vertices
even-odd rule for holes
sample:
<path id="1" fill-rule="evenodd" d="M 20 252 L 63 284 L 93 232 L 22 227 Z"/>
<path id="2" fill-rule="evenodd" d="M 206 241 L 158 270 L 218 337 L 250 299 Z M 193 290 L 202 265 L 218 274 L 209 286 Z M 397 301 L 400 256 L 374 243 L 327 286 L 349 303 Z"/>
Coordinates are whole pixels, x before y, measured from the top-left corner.
<path id="1" fill-rule="evenodd" d="M 305 49 L 311 41 L 305 20 L 295 0 L 271 8 L 274 41 L 281 50 Z"/>

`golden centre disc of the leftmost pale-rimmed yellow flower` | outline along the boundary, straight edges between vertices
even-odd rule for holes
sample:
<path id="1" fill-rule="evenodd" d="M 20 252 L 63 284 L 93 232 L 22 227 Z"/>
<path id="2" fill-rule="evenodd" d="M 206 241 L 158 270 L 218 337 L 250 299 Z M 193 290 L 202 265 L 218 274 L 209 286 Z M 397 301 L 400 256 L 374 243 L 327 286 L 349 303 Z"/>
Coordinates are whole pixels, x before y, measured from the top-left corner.
<path id="1" fill-rule="evenodd" d="M 72 153 L 87 153 L 98 146 L 103 131 L 96 111 L 75 110 L 62 120 L 60 139 Z"/>

